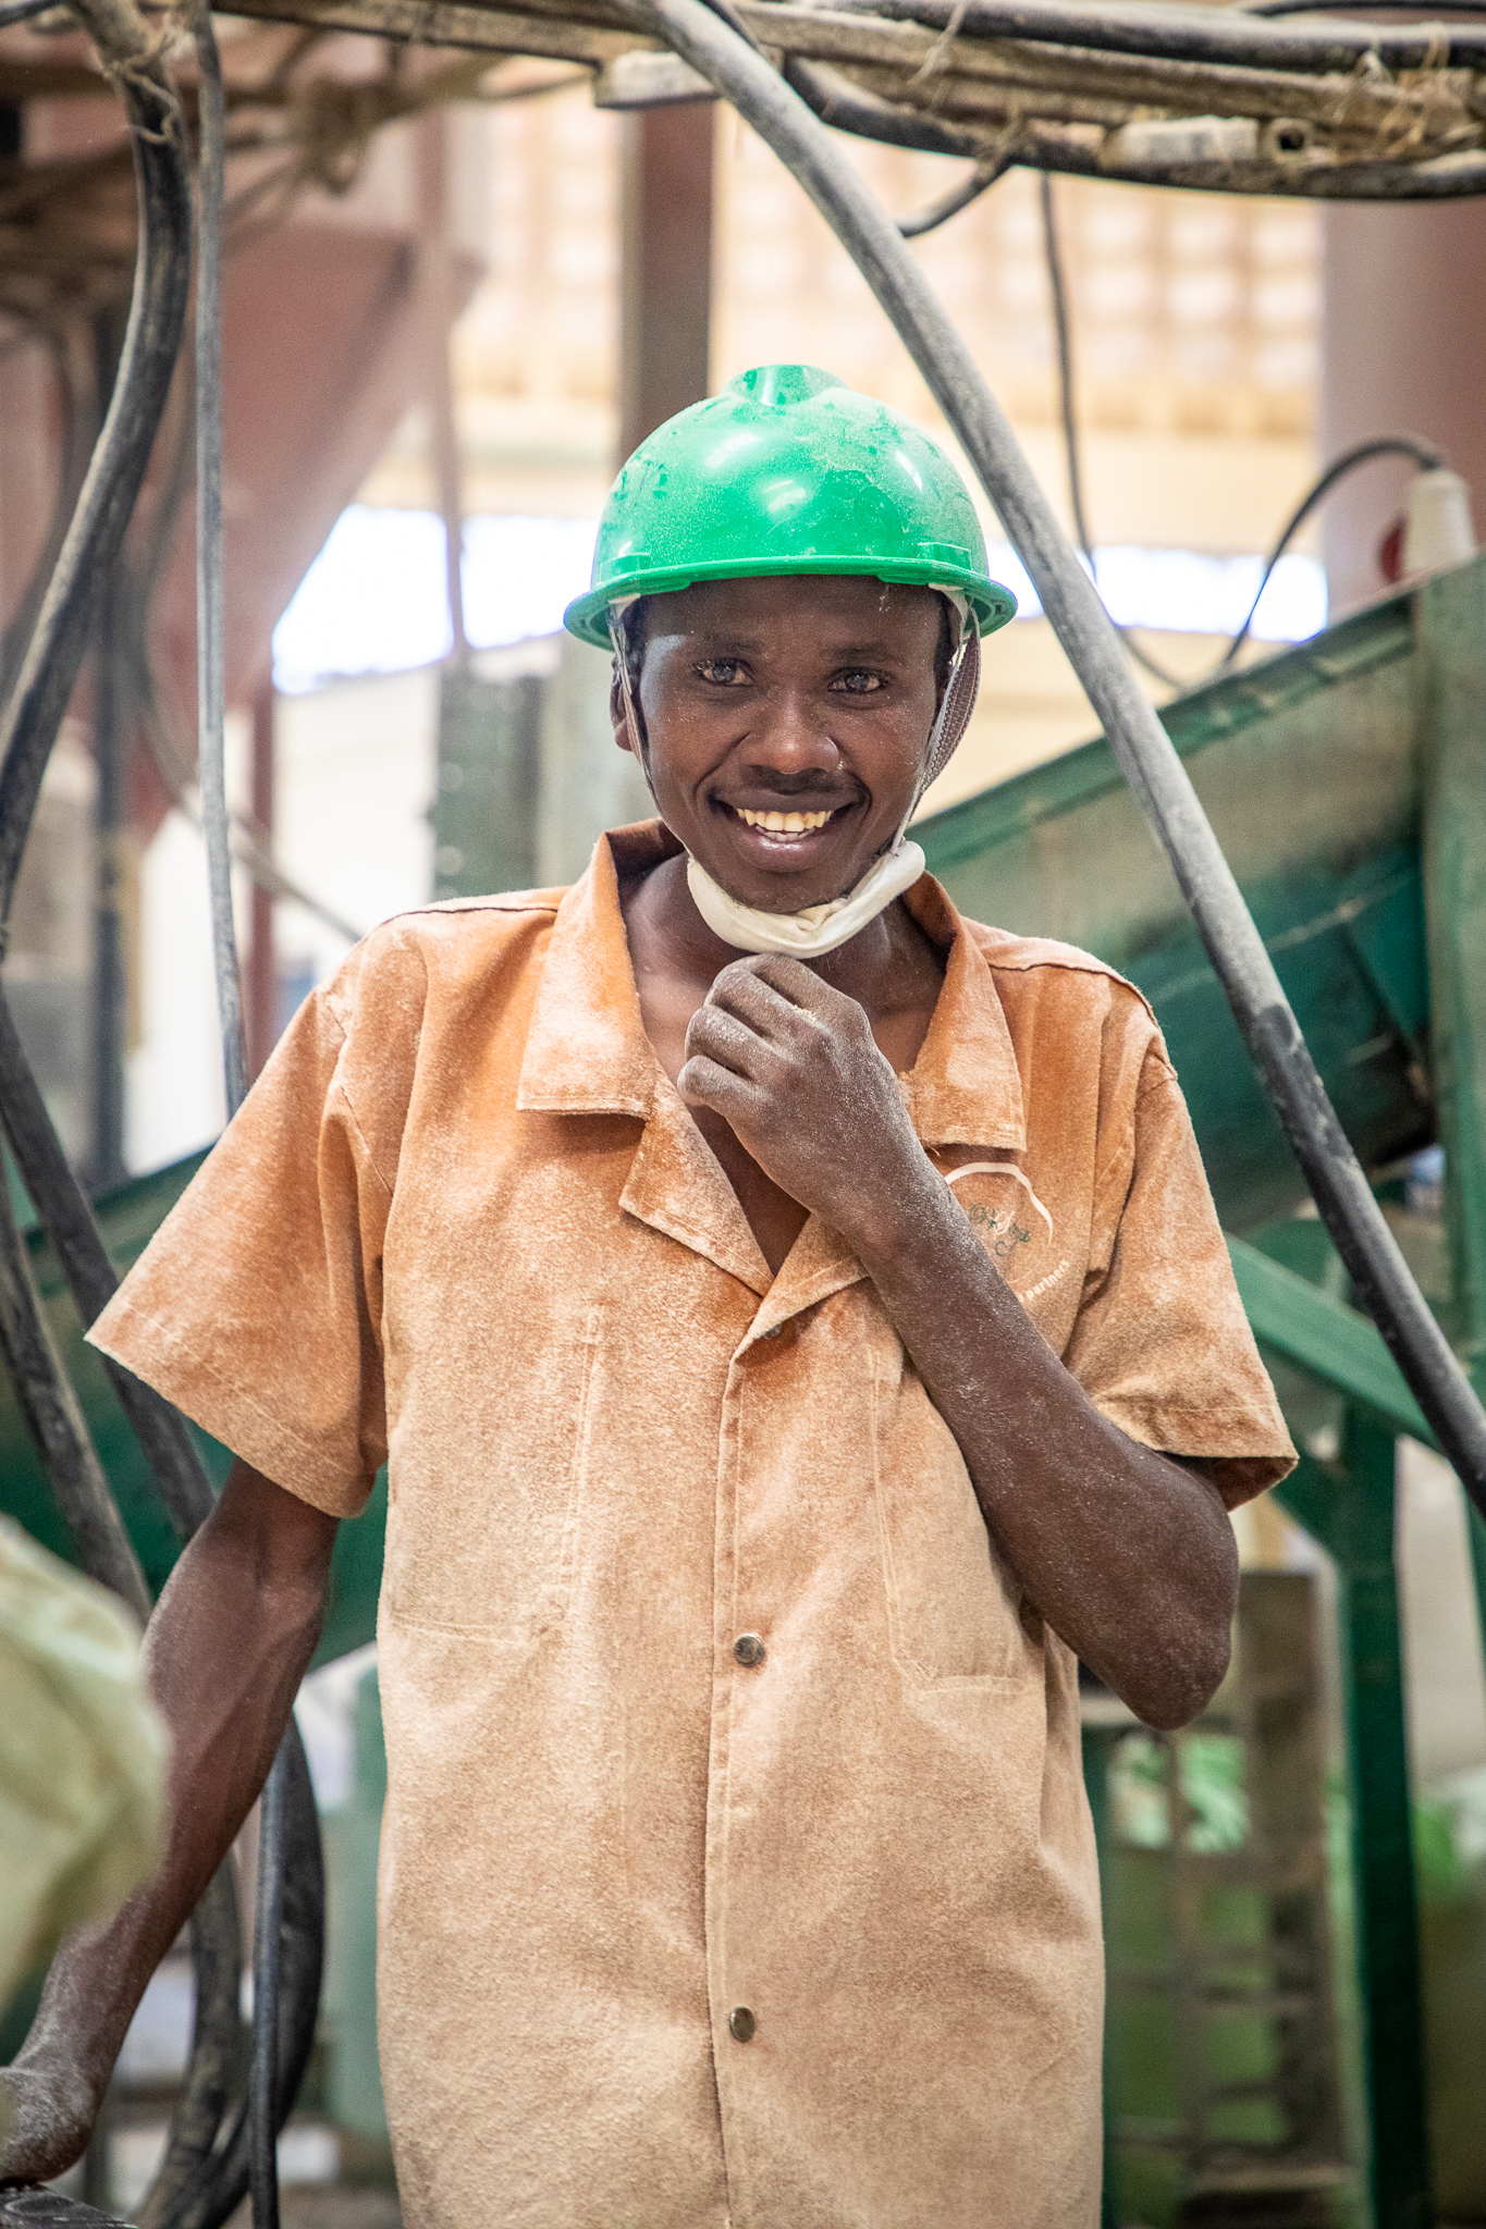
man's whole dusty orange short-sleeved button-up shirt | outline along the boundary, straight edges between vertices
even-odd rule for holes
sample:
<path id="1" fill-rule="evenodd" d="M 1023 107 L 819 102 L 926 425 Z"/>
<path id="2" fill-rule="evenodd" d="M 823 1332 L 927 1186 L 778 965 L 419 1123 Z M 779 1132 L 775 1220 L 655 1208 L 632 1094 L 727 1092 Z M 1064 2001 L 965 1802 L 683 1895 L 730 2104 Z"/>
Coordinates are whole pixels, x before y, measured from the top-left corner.
<path id="1" fill-rule="evenodd" d="M 842 1239 L 811 1217 L 771 1282 L 651 1050 L 615 863 L 671 849 L 377 929 L 94 1340 L 336 1516 L 390 1456 L 414 2229 L 1092 2229 L 1076 1665 Z M 971 1224 L 1109 1418 L 1268 1485 L 1147 1008 L 909 905 L 947 970 L 905 1092 Z"/>

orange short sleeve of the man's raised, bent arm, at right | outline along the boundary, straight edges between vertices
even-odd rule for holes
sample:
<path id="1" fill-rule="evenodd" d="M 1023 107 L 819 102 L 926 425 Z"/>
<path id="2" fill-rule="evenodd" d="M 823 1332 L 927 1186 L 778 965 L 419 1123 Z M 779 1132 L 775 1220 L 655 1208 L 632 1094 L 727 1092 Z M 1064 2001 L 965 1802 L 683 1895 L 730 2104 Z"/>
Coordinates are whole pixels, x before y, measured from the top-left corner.
<path id="1" fill-rule="evenodd" d="M 1294 1447 L 1159 1050 L 1101 1179 L 1094 1230 L 1101 1250 L 1063 1357 L 1069 1371 L 1132 1440 L 1199 1460 L 1230 1507 L 1263 1493 L 1294 1467 Z"/>

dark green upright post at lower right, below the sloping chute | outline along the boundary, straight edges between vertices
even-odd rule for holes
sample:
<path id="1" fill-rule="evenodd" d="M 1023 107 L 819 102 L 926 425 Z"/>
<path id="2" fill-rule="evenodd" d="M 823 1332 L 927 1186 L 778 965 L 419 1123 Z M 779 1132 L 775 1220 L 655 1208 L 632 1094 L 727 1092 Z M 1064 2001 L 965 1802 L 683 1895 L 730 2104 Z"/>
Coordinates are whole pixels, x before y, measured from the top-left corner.
<path id="1" fill-rule="evenodd" d="M 1279 1498 L 1330 1551 L 1339 1578 L 1372 2222 L 1424 2229 L 1428 2115 L 1392 1471 L 1392 1433 L 1348 1406 L 1341 1462 L 1323 1469 L 1301 1456 Z"/>

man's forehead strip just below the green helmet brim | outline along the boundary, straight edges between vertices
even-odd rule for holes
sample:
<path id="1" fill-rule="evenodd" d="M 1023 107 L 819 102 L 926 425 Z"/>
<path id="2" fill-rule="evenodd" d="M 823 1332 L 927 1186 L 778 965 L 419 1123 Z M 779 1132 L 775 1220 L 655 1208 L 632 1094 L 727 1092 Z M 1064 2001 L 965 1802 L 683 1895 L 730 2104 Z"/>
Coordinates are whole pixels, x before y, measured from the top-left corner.
<path id="1" fill-rule="evenodd" d="M 795 573 L 762 580 L 706 580 L 644 602 L 644 637 L 706 635 L 755 646 L 827 642 L 933 655 L 942 597 L 933 588 L 860 573 Z"/>

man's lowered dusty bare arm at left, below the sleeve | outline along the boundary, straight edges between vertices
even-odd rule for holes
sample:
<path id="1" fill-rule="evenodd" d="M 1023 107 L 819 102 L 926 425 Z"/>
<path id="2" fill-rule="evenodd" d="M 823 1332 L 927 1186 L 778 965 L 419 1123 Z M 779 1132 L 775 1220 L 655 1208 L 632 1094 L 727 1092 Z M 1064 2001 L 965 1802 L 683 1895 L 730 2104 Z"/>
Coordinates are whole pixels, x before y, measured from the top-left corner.
<path id="1" fill-rule="evenodd" d="M 158 1875 L 69 1935 L 13 2066 L 0 2180 L 42 2182 L 89 2140 L 134 2008 L 232 1846 L 274 1761 L 321 1632 L 336 1520 L 236 1462 L 145 1636 L 169 1730 Z"/>

